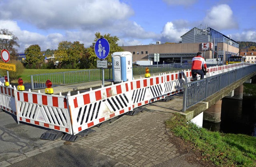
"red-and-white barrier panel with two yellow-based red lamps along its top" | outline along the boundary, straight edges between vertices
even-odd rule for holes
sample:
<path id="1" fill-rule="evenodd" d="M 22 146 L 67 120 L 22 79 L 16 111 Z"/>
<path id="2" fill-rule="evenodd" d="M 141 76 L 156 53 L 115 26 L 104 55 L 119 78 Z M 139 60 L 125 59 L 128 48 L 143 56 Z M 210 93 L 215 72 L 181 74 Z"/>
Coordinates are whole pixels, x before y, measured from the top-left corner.
<path id="1" fill-rule="evenodd" d="M 72 133 L 65 96 L 15 90 L 15 100 L 18 121 Z"/>

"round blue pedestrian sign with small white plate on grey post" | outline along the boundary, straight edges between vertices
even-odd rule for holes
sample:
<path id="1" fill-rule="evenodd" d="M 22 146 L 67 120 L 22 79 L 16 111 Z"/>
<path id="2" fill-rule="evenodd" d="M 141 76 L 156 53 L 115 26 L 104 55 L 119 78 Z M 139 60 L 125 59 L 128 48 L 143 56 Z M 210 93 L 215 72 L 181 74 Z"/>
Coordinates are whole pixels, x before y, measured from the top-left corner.
<path id="1" fill-rule="evenodd" d="M 110 46 L 108 40 L 103 37 L 100 37 L 94 45 L 94 52 L 96 56 L 100 59 L 97 60 L 97 68 L 102 69 L 102 85 L 104 87 L 104 68 L 108 68 L 108 61 L 105 59 L 110 51 Z"/>

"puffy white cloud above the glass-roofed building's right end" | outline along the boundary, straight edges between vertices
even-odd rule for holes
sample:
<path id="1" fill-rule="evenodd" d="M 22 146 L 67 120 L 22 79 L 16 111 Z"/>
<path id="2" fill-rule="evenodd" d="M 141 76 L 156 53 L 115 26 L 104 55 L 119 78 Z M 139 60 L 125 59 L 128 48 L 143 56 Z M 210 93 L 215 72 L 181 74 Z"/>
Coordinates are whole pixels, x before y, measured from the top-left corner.
<path id="1" fill-rule="evenodd" d="M 206 14 L 204 23 L 216 30 L 238 28 L 238 23 L 234 19 L 233 11 L 227 4 L 213 6 Z"/>

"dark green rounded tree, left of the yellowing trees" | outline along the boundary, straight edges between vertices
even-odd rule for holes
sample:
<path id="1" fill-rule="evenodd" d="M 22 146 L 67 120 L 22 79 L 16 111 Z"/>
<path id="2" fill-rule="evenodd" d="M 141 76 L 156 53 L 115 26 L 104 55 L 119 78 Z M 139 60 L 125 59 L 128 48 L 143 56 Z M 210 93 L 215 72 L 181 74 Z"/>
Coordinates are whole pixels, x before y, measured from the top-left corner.
<path id="1" fill-rule="evenodd" d="M 38 45 L 30 45 L 25 49 L 26 68 L 40 68 L 44 62 L 44 56 L 41 53 L 41 48 Z"/>

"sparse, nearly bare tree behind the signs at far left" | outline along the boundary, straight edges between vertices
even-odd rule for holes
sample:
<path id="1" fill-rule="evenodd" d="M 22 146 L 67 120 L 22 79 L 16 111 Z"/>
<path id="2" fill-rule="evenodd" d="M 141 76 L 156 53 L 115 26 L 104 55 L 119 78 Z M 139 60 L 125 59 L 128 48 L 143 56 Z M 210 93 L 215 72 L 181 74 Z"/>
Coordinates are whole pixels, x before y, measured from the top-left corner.
<path id="1" fill-rule="evenodd" d="M 12 40 L 0 39 L 0 49 L 3 50 L 6 48 L 11 56 L 16 56 L 17 50 L 14 48 L 14 46 L 20 47 L 17 42 L 18 37 L 16 37 L 13 32 L 10 32 L 7 29 L 0 29 L 0 34 L 12 36 Z"/>

